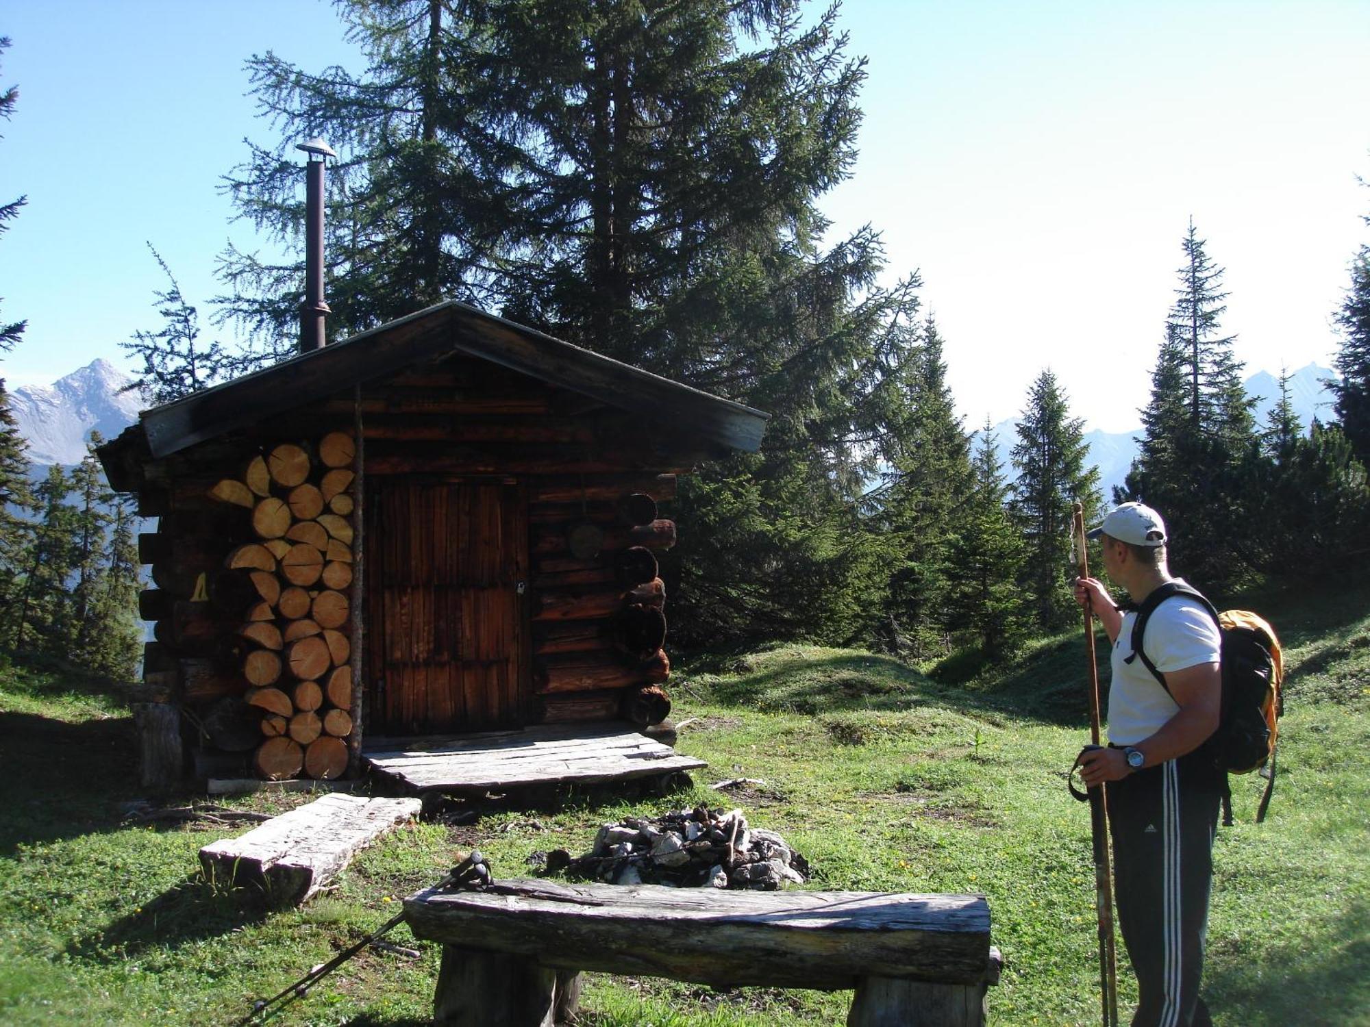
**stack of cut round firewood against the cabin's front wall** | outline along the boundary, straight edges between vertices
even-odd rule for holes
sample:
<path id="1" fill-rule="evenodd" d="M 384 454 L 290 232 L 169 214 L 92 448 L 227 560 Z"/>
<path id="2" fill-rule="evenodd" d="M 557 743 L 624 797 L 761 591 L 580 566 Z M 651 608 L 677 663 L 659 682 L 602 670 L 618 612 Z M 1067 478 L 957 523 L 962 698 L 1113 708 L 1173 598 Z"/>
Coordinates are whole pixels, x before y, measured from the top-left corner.
<path id="1" fill-rule="evenodd" d="M 352 733 L 349 586 L 352 583 L 352 461 L 342 431 L 314 455 L 282 442 L 247 466 L 241 481 L 210 489 L 221 503 L 251 511 L 256 541 L 225 559 L 214 600 L 241 611 L 236 635 L 247 702 L 262 711 L 264 739 L 253 767 L 270 781 L 337 778 Z"/>

